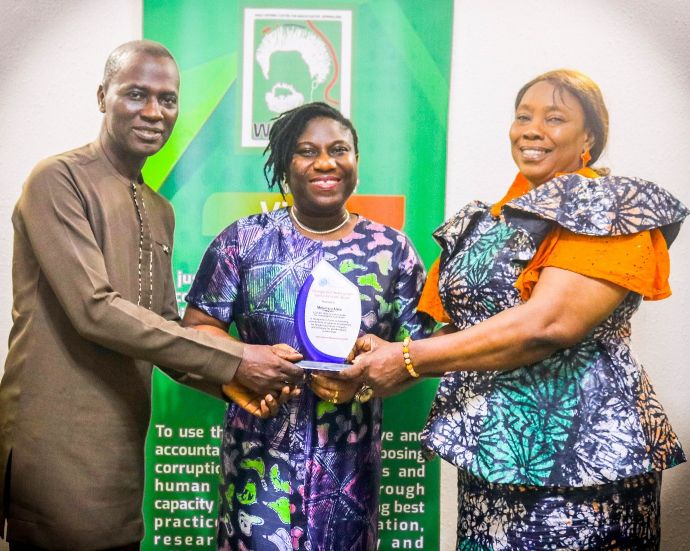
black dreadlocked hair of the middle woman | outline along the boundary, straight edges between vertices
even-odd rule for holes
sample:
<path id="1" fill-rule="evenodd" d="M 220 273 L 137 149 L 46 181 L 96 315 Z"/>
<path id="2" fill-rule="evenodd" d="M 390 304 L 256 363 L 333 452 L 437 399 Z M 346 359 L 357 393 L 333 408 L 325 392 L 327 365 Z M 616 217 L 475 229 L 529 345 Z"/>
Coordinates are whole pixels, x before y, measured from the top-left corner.
<path id="1" fill-rule="evenodd" d="M 307 124 L 320 117 L 338 121 L 347 128 L 352 133 L 355 154 L 359 153 L 357 131 L 352 126 L 350 119 L 343 116 L 337 109 L 320 101 L 300 105 L 273 119 L 271 130 L 268 133 L 268 145 L 264 149 L 264 155 L 268 152 L 268 159 L 264 164 L 264 178 L 266 178 L 269 189 L 273 189 L 277 185 L 285 197 L 286 190 L 283 189 L 281 182 L 285 180 L 288 174 L 297 140 L 304 132 Z"/>

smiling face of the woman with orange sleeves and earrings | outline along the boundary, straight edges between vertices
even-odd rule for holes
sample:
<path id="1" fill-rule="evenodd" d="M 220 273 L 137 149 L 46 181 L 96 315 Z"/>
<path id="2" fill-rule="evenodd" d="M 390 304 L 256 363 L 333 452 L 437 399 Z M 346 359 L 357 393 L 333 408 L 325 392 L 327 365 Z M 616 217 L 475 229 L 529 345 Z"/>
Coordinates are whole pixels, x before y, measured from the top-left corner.
<path id="1" fill-rule="evenodd" d="M 513 160 L 532 186 L 557 172 L 574 172 L 580 155 L 592 146 L 577 98 L 548 81 L 537 82 L 522 97 L 510 127 Z"/>

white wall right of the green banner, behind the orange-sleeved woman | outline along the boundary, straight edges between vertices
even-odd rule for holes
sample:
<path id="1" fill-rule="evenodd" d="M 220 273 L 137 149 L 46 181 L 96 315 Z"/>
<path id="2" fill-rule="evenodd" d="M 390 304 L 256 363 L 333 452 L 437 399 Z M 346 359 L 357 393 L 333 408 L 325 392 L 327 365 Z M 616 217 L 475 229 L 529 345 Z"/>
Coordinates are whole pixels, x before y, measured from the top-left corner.
<path id="1" fill-rule="evenodd" d="M 516 172 L 508 127 L 518 89 L 550 69 L 589 74 L 611 116 L 600 166 L 653 180 L 690 205 L 690 4 L 686 0 L 456 0 L 446 214 L 499 199 Z M 674 295 L 643 303 L 633 346 L 690 451 L 690 225 L 671 249 Z M 444 469 L 443 488 L 455 473 Z M 664 474 L 665 551 L 690 548 L 690 467 Z M 455 506 L 443 500 L 442 549 Z"/>

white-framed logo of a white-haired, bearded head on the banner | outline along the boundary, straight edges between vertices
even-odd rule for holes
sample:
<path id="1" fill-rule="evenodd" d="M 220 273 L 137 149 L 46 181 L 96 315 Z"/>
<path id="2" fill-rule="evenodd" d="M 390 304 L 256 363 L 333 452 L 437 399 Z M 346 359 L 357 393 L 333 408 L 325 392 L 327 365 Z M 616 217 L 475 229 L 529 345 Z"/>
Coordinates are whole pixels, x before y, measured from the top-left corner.
<path id="1" fill-rule="evenodd" d="M 243 147 L 266 147 L 271 120 L 305 103 L 350 116 L 351 11 L 247 8 L 243 33 Z"/>

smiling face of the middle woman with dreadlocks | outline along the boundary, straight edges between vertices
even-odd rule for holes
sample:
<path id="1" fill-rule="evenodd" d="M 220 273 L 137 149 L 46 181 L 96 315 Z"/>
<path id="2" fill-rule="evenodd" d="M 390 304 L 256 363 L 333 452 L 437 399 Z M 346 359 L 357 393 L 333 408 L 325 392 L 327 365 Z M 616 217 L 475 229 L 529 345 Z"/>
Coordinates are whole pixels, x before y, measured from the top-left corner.
<path id="1" fill-rule="evenodd" d="M 325 117 L 309 121 L 295 144 L 287 181 L 300 213 L 339 215 L 357 182 L 357 155 L 350 130 Z"/>

